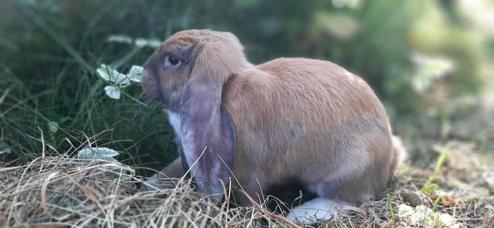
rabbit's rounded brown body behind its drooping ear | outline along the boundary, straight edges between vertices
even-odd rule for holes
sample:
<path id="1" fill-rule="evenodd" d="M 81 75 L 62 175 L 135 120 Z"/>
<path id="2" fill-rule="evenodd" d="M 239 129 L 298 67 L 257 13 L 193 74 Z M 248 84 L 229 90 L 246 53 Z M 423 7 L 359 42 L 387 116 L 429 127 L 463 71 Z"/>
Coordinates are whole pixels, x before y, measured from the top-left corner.
<path id="1" fill-rule="evenodd" d="M 360 77 L 329 61 L 266 62 L 234 74 L 222 100 L 236 134 L 237 178 L 311 182 L 388 163 L 391 131 L 382 104 Z"/>

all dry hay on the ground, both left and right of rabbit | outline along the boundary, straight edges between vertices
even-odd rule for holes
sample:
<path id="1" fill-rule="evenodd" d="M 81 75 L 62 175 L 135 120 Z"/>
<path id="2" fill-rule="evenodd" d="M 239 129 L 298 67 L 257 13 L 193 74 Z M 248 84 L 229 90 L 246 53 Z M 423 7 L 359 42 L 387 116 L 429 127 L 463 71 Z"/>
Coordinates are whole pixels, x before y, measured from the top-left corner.
<path id="1" fill-rule="evenodd" d="M 38 157 L 16 167 L 3 164 L 0 166 L 0 227 L 243 228 L 254 227 L 259 219 L 265 227 L 293 227 L 254 206 L 231 207 L 229 202 L 215 205 L 194 191 L 187 179 L 169 180 L 173 188 L 141 191 L 138 186 L 144 178 L 135 174 L 136 169 L 105 160 L 80 160 L 63 155 Z M 361 212 L 338 213 L 339 219 L 321 221 L 314 227 L 397 227 L 402 222 L 398 205 L 417 200 L 429 208 L 433 205 L 433 198 L 420 193 L 415 186 L 427 175 L 416 169 L 405 170 L 377 200 L 362 202 Z M 446 190 L 454 194 L 461 189 Z M 387 193 L 391 196 L 395 221 Z M 460 199 L 456 195 L 453 206 L 440 202 L 437 211 L 453 216 L 462 227 L 494 227 L 493 197 L 489 191 L 476 199 Z"/>

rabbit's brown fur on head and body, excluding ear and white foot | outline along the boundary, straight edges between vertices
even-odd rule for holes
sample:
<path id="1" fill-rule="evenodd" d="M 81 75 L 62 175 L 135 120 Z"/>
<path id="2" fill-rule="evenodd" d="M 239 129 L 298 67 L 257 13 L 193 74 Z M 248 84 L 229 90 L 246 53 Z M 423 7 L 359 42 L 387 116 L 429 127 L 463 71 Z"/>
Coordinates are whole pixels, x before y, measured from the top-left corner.
<path id="1" fill-rule="evenodd" d="M 187 64 L 160 71 L 156 56 L 170 52 Z M 278 58 L 253 66 L 233 34 L 187 30 L 157 49 L 142 84 L 180 113 L 190 80 L 220 92 L 235 131 L 233 175 L 247 192 L 297 180 L 323 197 L 354 202 L 382 190 L 399 165 L 403 150 L 377 96 L 329 61 Z M 181 169 L 178 161 L 164 173 Z"/>

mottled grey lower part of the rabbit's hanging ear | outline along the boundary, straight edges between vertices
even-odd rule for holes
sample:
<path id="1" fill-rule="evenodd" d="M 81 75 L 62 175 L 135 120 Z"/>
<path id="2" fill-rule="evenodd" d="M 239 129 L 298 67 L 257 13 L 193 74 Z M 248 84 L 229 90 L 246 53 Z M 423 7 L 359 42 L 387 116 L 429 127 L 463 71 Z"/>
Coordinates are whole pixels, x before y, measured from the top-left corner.
<path id="1" fill-rule="evenodd" d="M 200 191 L 222 193 L 218 179 L 225 184 L 229 182 L 235 157 L 235 134 L 230 116 L 221 104 L 221 90 L 190 82 L 181 108 L 182 159 L 189 168 L 192 166 L 191 174 Z"/>

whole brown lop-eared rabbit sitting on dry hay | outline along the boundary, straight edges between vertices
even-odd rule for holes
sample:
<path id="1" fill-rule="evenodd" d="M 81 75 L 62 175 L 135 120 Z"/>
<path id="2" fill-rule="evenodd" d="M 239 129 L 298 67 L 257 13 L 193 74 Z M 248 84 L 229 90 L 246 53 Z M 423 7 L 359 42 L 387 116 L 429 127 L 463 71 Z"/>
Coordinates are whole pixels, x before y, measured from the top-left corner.
<path id="1" fill-rule="evenodd" d="M 156 177 L 190 169 L 197 189 L 221 197 L 230 180 L 252 198 L 296 181 L 317 198 L 292 208 L 303 224 L 383 190 L 405 149 L 360 77 L 324 60 L 253 65 L 229 32 L 185 30 L 148 59 L 142 88 L 165 105 L 181 156 Z M 252 202 L 235 192 L 240 205 Z M 330 213 L 328 213 L 330 212 Z"/>

